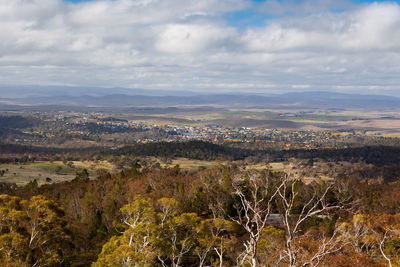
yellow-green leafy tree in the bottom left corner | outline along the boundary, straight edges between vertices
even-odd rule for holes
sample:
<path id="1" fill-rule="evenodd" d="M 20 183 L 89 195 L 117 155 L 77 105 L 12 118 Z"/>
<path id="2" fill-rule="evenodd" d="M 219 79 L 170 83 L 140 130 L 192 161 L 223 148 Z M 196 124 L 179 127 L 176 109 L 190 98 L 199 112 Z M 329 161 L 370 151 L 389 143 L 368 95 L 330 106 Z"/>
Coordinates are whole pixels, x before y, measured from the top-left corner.
<path id="1" fill-rule="evenodd" d="M 21 200 L 0 196 L 0 261 L 6 264 L 62 264 L 70 235 L 64 211 L 38 195 Z"/>

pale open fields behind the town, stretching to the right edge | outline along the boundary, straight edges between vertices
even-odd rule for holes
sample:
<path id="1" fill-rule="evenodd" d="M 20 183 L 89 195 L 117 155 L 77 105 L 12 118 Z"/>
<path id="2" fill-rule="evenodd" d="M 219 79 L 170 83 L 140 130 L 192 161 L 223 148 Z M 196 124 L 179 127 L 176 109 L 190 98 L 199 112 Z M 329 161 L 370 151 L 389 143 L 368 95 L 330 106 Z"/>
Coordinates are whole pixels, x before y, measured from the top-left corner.
<path id="1" fill-rule="evenodd" d="M 398 111 L 296 110 L 296 109 L 226 109 L 221 111 L 130 114 L 121 118 L 151 124 L 184 126 L 221 125 L 225 127 L 308 129 L 317 127 L 354 129 L 394 129 L 400 133 Z"/>

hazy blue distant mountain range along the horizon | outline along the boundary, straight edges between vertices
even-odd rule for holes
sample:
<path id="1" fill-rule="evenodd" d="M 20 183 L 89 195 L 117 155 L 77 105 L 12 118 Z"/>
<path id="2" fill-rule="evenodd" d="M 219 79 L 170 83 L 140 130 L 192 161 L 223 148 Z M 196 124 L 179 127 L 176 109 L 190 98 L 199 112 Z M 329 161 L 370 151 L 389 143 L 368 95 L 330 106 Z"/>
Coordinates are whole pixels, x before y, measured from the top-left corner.
<path id="1" fill-rule="evenodd" d="M 385 95 L 358 95 L 334 92 L 296 92 L 280 95 L 196 94 L 180 91 L 151 91 L 124 88 L 41 87 L 30 93 L 27 87 L 8 89 L 0 86 L 0 101 L 7 105 L 70 107 L 173 107 L 229 106 L 285 109 L 400 109 L 400 98 Z M 30 87 L 29 87 L 30 88 Z M 11 90 L 11 91 L 9 91 Z M 47 93 L 46 93 L 47 92 Z M 110 94 L 110 92 L 112 92 Z"/>

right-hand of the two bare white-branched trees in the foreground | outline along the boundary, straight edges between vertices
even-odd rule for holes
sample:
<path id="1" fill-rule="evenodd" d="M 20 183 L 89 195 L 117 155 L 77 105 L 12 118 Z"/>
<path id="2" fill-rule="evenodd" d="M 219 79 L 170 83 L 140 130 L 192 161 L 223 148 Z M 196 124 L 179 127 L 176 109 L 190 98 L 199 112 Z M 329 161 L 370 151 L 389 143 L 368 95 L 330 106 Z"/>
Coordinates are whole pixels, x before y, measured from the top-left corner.
<path id="1" fill-rule="evenodd" d="M 278 189 L 278 202 L 282 209 L 282 221 L 286 231 L 285 248 L 281 251 L 278 263 L 286 261 L 290 267 L 317 266 L 324 257 L 340 251 L 346 244 L 337 238 L 336 229 L 331 236 L 327 236 L 319 231 L 312 231 L 312 228 L 305 228 L 305 225 L 313 219 L 324 218 L 329 215 L 330 211 L 340 208 L 339 204 L 330 203 L 327 197 L 332 185 L 326 186 L 325 189 L 320 185 L 310 185 L 311 197 L 299 201 L 300 193 L 303 197 L 307 197 L 304 190 L 300 191 L 301 185 L 301 181 L 289 180 L 286 177 Z M 312 242 L 313 240 L 307 238 L 313 235 L 315 236 L 314 240 L 320 240 L 320 242 Z M 315 243 L 314 251 L 306 253 L 302 248 L 304 242 Z"/>

